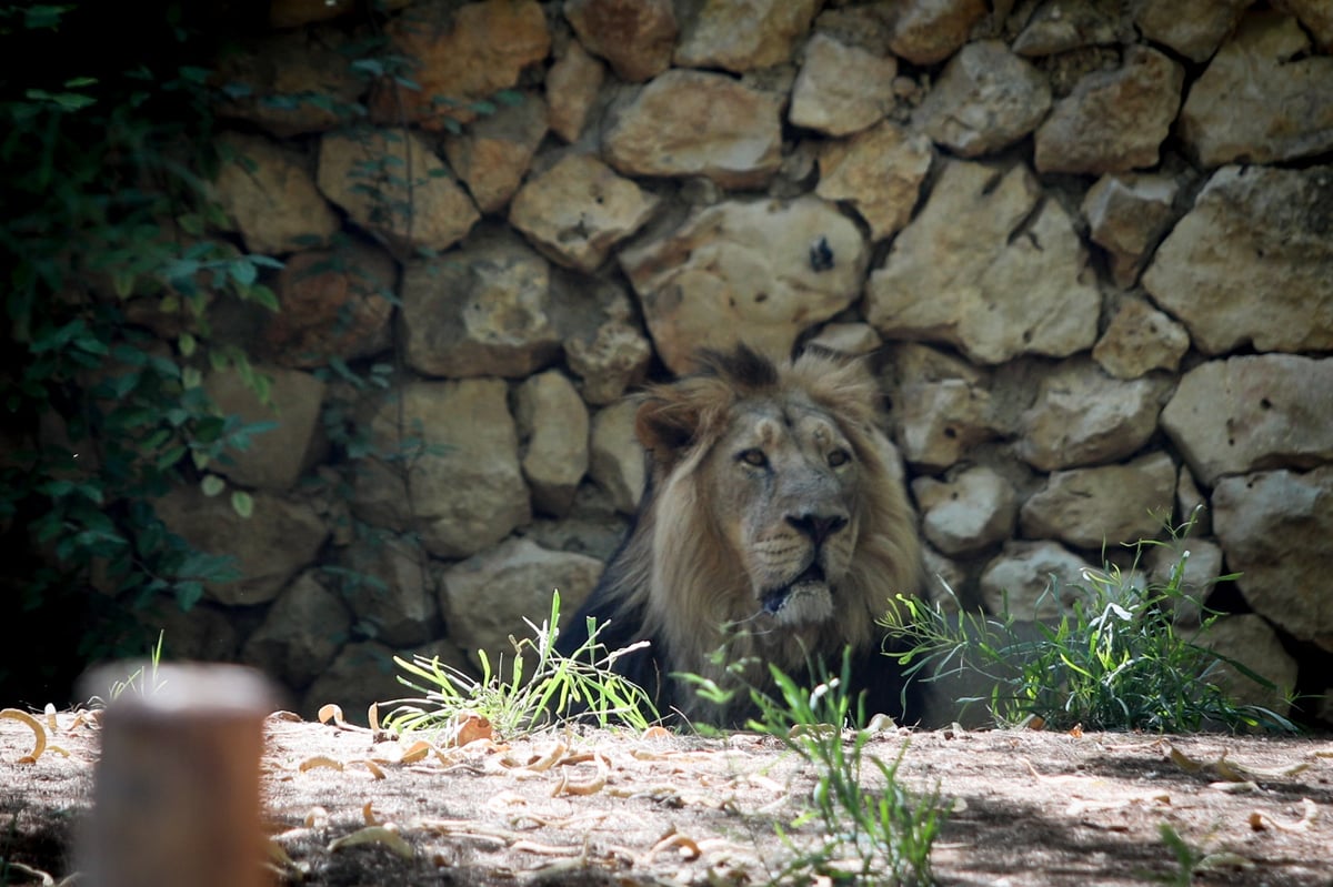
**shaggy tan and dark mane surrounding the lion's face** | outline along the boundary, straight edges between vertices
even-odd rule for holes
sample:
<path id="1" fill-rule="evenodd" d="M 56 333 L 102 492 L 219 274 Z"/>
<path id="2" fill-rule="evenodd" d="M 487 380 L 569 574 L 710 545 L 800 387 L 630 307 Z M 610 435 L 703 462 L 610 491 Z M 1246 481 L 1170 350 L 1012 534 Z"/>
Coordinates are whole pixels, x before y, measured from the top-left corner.
<path id="1" fill-rule="evenodd" d="M 808 349 L 773 362 L 746 348 L 704 353 L 701 369 L 640 396 L 636 433 L 645 449 L 648 485 L 635 523 L 561 646 L 587 638 L 585 617 L 611 621 L 599 641 L 619 646 L 648 639 L 647 653 L 627 657 L 627 673 L 659 701 L 688 717 L 734 721 L 740 709 L 709 711 L 668 675 L 693 673 L 721 685 L 734 681 L 726 662 L 750 662 L 745 681 L 762 686 L 766 663 L 804 674 L 813 659 L 833 671 L 844 646 L 861 670 L 860 685 L 878 707 L 896 699 L 897 685 L 878 655 L 876 619 L 894 594 L 920 586 L 920 542 L 898 457 L 885 433 L 882 396 L 864 360 Z M 830 417 L 854 450 L 860 475 L 854 507 L 857 538 L 837 586 L 836 615 L 808 630 L 745 630 L 756 602 L 744 567 L 708 514 L 714 490 L 700 470 L 705 455 L 752 398 L 796 400 Z M 732 626 L 728 630 L 728 626 Z M 830 661 L 832 659 L 832 661 Z M 889 690 L 893 693 L 876 693 Z M 901 714 L 901 711 L 894 711 Z"/>

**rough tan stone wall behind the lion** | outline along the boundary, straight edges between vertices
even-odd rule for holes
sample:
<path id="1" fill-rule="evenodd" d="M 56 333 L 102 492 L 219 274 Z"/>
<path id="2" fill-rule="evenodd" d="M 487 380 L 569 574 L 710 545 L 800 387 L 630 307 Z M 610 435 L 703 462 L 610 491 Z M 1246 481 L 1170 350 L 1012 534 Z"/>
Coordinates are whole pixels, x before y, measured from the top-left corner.
<path id="1" fill-rule="evenodd" d="M 287 266 L 280 314 L 216 306 L 273 409 L 209 386 L 279 429 L 227 469 L 249 521 L 161 502 L 245 573 L 177 654 L 359 717 L 393 653 L 507 651 L 635 507 L 621 396 L 813 337 L 884 346 L 964 601 L 1034 606 L 1204 505 L 1192 581 L 1241 573 L 1213 599 L 1246 614 L 1217 643 L 1329 717 L 1326 3 L 391 4 L 419 92 L 357 76 L 352 5 L 275 0 L 224 63 L 217 196 Z"/>

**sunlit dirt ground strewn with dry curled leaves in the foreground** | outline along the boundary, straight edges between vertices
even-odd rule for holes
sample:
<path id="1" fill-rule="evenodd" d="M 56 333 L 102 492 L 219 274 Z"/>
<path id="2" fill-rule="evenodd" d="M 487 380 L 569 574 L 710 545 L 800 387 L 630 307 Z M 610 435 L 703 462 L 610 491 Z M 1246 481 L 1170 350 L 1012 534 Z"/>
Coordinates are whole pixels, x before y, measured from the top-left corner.
<path id="1" fill-rule="evenodd" d="M 99 727 L 56 721 L 24 760 L 33 730 L 0 719 L 4 884 L 75 874 Z M 765 884 L 792 858 L 774 824 L 816 838 L 790 827 L 812 774 L 768 737 L 579 730 L 425 748 L 283 713 L 264 730 L 284 883 Z M 869 751 L 901 752 L 900 780 L 949 808 L 941 884 L 1333 884 L 1330 737 L 890 727 Z M 1193 880 L 1162 824 L 1201 862 Z"/>

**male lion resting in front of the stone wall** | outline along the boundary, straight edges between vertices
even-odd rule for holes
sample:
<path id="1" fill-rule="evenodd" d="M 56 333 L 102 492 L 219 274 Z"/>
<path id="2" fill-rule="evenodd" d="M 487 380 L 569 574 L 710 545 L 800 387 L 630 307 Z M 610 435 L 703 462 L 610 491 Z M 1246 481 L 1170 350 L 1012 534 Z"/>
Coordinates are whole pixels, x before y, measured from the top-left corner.
<path id="1" fill-rule="evenodd" d="M 810 348 L 776 362 L 741 345 L 698 362 L 639 396 L 641 503 L 560 649 L 595 617 L 608 650 L 649 642 L 617 670 L 659 711 L 737 725 L 746 693 L 716 706 L 674 675 L 770 690 L 768 663 L 837 674 L 850 647 L 868 711 L 901 718 L 876 619 L 917 591 L 921 549 L 868 360 Z"/>

